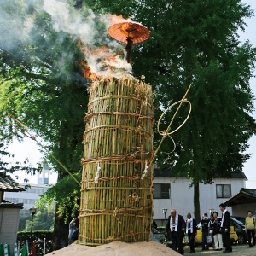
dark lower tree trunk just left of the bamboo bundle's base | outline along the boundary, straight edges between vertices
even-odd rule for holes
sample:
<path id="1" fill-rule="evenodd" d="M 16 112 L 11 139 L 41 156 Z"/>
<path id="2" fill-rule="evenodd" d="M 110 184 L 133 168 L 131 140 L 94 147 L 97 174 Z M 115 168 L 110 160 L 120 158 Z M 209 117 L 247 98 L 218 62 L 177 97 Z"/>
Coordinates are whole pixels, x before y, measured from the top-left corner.
<path id="1" fill-rule="evenodd" d="M 55 207 L 55 228 L 53 234 L 53 249 L 59 250 L 63 247 L 67 247 L 68 244 L 68 224 L 64 222 L 65 216 L 59 218 L 56 213 L 58 205 Z"/>

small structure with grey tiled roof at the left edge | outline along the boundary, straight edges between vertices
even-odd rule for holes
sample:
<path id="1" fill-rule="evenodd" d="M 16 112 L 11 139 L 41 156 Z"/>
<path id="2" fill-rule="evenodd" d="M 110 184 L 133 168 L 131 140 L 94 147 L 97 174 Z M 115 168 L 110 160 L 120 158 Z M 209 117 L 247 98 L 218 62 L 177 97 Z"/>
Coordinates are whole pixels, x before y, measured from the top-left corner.
<path id="1" fill-rule="evenodd" d="M 8 243 L 11 252 L 17 238 L 19 226 L 20 209 L 22 203 L 12 203 L 3 200 L 4 192 L 25 191 L 18 183 L 16 183 L 9 175 L 0 172 L 0 243 Z"/>

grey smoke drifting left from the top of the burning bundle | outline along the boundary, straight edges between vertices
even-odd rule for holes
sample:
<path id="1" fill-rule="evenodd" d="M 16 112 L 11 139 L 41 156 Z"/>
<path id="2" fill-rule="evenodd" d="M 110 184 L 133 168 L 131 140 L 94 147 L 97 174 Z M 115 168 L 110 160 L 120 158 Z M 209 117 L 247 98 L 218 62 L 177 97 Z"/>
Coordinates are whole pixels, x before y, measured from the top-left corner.
<path id="1" fill-rule="evenodd" d="M 40 21 L 40 17 L 43 17 Z M 46 20 L 47 22 L 45 23 Z M 50 58 L 55 47 L 61 48 L 61 55 L 55 60 L 61 73 L 67 72 L 67 61 L 74 61 L 74 53 L 67 49 L 67 37 L 77 42 L 82 40 L 88 51 L 84 55 L 90 69 L 97 75 L 109 76 L 110 66 L 113 76 L 119 76 L 120 70 L 131 72 L 131 65 L 125 61 L 124 45 L 113 41 L 108 36 L 111 26 L 110 15 L 96 15 L 91 9 L 75 9 L 71 1 L 56 0 L 1 0 L 0 1 L 0 50 L 4 49 L 22 61 L 43 61 Z M 41 22 L 41 23 L 40 23 Z M 102 26 L 105 27 L 102 32 Z M 49 26 L 45 29 L 44 26 Z M 55 41 L 49 42 L 49 29 L 57 34 Z M 44 41 L 44 42 L 43 42 Z M 38 48 L 40 56 L 33 55 Z M 44 44 L 48 44 L 44 47 Z M 37 49 L 31 49 L 37 45 Z M 108 51 L 93 55 L 96 45 L 108 46 Z M 115 50 L 123 52 L 115 60 Z M 100 58 L 100 60 L 99 60 Z"/>

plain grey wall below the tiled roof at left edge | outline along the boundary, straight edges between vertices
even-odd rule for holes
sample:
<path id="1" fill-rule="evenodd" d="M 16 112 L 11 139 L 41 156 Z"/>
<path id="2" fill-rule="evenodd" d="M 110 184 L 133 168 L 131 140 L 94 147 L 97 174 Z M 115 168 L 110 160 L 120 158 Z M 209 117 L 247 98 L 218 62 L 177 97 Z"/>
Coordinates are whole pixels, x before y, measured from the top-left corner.
<path id="1" fill-rule="evenodd" d="M 17 239 L 19 208 L 0 208 L 0 243 L 10 244 L 11 251 Z"/>

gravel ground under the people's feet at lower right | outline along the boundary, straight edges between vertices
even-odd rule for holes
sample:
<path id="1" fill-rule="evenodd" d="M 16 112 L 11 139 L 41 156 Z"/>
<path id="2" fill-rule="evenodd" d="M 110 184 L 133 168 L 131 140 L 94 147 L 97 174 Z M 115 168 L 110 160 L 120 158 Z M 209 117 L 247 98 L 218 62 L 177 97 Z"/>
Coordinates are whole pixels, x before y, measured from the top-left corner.
<path id="1" fill-rule="evenodd" d="M 184 254 L 187 254 L 188 256 L 224 256 L 224 255 L 230 255 L 230 256 L 256 256 L 256 247 L 249 247 L 248 245 L 236 245 L 232 246 L 232 253 L 223 253 L 222 251 L 214 251 L 212 248 L 210 248 L 208 251 L 202 251 L 201 247 L 195 248 L 195 253 L 189 253 L 189 247 L 184 248 Z"/>

